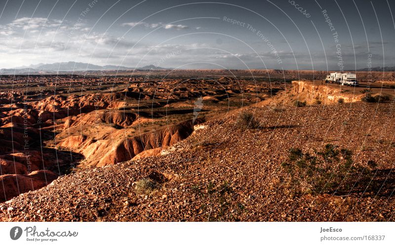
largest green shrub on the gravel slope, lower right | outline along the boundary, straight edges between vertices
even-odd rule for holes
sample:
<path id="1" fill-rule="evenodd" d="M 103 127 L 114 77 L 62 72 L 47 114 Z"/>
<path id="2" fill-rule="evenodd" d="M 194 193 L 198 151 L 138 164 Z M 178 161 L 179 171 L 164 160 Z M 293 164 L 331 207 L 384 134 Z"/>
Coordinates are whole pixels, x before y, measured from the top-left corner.
<path id="1" fill-rule="evenodd" d="M 376 167 L 373 162 L 366 168 L 354 165 L 350 150 L 332 144 L 326 144 L 322 151 L 314 154 L 291 148 L 288 160 L 281 166 L 289 176 L 290 185 L 295 187 L 295 193 L 313 194 L 349 190 L 361 177 L 370 178 Z"/>

